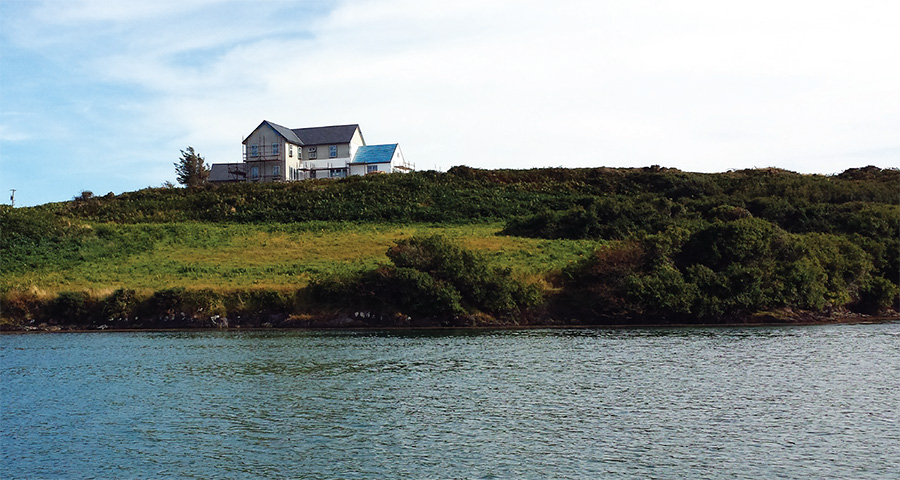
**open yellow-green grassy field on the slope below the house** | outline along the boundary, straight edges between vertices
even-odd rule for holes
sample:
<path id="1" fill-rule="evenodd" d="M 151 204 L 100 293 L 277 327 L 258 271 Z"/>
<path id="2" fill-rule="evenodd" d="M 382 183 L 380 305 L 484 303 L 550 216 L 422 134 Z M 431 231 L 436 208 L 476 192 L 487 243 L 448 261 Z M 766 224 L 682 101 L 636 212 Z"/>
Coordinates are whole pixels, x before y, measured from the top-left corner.
<path id="1" fill-rule="evenodd" d="M 477 252 L 491 264 L 512 268 L 539 283 L 592 251 L 588 240 L 498 236 L 501 223 L 464 225 L 303 222 L 290 224 L 86 224 L 91 234 L 75 247 L 40 251 L 58 261 L 7 272 L 3 291 L 53 296 L 61 291 L 106 295 L 116 288 L 151 293 L 185 287 L 228 291 L 293 290 L 319 275 L 388 263 L 395 241 L 439 233 Z"/>

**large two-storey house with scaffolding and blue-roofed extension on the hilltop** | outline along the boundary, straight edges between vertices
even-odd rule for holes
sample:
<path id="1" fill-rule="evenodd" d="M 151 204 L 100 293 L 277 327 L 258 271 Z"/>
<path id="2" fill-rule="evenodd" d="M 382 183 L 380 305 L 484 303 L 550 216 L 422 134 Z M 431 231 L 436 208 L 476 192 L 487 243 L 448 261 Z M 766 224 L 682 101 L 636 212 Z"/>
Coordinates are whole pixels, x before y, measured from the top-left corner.
<path id="1" fill-rule="evenodd" d="M 243 163 L 215 163 L 211 182 L 280 182 L 408 172 L 400 145 L 366 145 L 359 125 L 290 129 L 263 121 L 243 141 Z"/>

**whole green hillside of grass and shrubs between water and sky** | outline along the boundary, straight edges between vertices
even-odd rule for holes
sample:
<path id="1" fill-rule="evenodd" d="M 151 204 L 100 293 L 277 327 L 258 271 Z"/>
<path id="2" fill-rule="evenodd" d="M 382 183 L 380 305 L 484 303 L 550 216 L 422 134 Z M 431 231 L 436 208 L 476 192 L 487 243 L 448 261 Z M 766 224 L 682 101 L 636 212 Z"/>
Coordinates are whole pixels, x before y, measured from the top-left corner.
<path id="1" fill-rule="evenodd" d="M 0 209 L 0 328 L 900 315 L 900 170 L 479 170 Z"/>

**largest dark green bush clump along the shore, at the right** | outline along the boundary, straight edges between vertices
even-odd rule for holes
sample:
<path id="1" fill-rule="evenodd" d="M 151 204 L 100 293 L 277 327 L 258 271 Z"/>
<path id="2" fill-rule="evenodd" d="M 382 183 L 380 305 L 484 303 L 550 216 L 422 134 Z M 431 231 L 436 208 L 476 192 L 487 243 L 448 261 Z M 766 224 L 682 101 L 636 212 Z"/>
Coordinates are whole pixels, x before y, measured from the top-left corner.
<path id="1" fill-rule="evenodd" d="M 564 273 L 560 308 L 578 318 L 727 319 L 771 308 L 896 306 L 897 286 L 844 236 L 790 234 L 757 218 L 715 221 L 604 245 Z"/>

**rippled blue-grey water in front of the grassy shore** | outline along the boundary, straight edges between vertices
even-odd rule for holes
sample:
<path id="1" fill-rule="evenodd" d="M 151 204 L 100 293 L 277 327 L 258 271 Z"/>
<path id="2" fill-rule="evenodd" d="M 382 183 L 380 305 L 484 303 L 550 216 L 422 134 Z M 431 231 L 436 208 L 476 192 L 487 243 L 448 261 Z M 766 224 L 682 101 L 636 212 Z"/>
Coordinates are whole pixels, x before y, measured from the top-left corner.
<path id="1" fill-rule="evenodd" d="M 0 336 L 3 478 L 900 478 L 900 323 Z"/>

